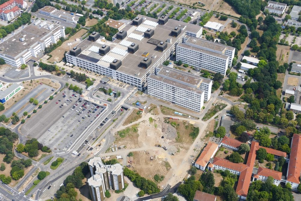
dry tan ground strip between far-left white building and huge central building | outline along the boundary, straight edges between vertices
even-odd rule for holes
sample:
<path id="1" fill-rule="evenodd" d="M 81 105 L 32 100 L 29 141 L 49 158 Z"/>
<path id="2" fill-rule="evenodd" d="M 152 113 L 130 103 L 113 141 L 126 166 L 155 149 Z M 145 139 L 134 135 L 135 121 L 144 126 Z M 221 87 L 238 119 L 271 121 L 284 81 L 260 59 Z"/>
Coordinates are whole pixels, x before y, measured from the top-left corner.
<path id="1" fill-rule="evenodd" d="M 76 46 L 80 41 L 75 42 L 75 39 L 80 38 L 83 34 L 85 34 L 87 30 L 81 29 L 75 35 L 70 37 L 69 40 L 64 41 L 64 43 L 59 46 L 58 48 L 54 49 L 50 54 L 52 57 L 48 60 L 49 62 L 53 63 L 55 61 L 61 61 L 64 58 L 65 51 L 69 51 L 71 48 Z M 69 45 L 72 43 L 72 45 Z"/>

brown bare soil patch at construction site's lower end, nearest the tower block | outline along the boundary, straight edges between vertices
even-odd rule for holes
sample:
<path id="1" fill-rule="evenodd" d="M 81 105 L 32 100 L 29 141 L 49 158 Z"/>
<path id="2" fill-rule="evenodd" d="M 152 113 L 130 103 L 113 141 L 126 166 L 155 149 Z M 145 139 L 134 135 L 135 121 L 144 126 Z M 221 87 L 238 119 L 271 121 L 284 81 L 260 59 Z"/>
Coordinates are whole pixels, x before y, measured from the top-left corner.
<path id="1" fill-rule="evenodd" d="M 134 170 L 142 177 L 155 181 L 153 178 L 155 174 L 165 176 L 168 173 L 170 169 L 168 164 L 166 164 L 168 162 L 160 156 L 160 152 L 150 151 L 150 154 L 147 154 L 144 151 L 139 151 L 133 153 L 135 163 L 132 165 L 134 166 Z M 154 156 L 154 160 L 151 160 L 151 156 Z M 167 179 L 165 178 L 164 180 Z M 164 183 L 164 180 L 161 183 Z"/>

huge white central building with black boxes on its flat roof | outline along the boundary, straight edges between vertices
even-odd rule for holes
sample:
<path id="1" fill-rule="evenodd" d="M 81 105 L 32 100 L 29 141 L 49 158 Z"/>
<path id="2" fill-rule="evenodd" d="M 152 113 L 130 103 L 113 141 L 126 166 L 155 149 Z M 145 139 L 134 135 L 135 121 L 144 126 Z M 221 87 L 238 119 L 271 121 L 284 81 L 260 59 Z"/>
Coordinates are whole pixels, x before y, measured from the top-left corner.
<path id="1" fill-rule="evenodd" d="M 98 33 L 91 34 L 67 52 L 66 59 L 70 64 L 144 90 L 147 76 L 155 74 L 155 68 L 175 53 L 176 44 L 186 35 L 201 37 L 202 27 L 138 15 L 113 36 L 112 42 Z"/>

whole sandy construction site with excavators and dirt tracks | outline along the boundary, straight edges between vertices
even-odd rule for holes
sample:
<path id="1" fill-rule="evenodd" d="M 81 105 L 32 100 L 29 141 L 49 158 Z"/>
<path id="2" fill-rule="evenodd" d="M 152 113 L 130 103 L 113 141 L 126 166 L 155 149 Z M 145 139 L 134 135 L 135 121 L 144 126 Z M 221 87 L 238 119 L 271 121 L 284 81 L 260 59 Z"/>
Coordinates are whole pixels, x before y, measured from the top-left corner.
<path id="1" fill-rule="evenodd" d="M 126 119 L 124 117 L 123 121 Z M 154 115 L 144 110 L 138 120 L 126 126 L 121 122 L 111 130 L 115 142 L 103 156 L 117 158 L 121 164 L 150 180 L 154 180 L 154 175 L 164 175 L 164 179 L 156 181 L 159 186 L 164 186 L 175 173 L 172 169 L 185 171 L 178 169 L 182 161 L 191 163 L 203 147 L 203 142 L 196 142 L 192 153 L 186 157 L 194 142 L 190 133 L 198 126 L 189 119 L 161 112 Z"/>

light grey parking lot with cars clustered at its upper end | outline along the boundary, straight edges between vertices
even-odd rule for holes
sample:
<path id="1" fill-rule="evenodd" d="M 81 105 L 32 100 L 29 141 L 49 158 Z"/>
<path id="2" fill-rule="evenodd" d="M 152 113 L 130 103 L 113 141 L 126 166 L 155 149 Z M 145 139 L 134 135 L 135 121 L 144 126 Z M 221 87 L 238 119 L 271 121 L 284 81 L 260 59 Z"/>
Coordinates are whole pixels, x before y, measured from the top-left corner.
<path id="1" fill-rule="evenodd" d="M 50 148 L 65 151 L 72 147 L 73 142 L 85 128 L 105 109 L 105 107 L 102 108 L 103 106 L 99 107 L 86 101 L 78 101 L 78 97 L 73 98 L 72 95 L 62 97 L 61 101 L 56 102 L 56 107 L 68 110 L 39 137 L 39 142 Z"/>

